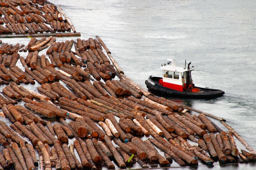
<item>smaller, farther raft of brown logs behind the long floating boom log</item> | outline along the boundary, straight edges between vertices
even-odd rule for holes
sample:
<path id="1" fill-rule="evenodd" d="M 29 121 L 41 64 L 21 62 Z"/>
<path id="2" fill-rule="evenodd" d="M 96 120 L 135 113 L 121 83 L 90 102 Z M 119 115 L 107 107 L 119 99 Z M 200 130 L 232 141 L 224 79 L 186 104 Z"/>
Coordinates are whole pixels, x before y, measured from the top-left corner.
<path id="1" fill-rule="evenodd" d="M 71 29 L 76 33 L 72 22 L 60 8 L 48 1 L 32 2 L 9 0 L 1 2 L 0 13 L 6 25 L 0 27 L 0 34 L 71 32 Z"/>

